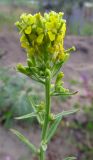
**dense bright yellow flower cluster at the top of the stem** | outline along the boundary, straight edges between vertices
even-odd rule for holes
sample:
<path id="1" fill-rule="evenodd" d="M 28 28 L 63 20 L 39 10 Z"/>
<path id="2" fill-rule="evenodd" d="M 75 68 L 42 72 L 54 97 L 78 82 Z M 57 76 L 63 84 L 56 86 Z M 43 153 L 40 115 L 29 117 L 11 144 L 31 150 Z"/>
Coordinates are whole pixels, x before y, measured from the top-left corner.
<path id="1" fill-rule="evenodd" d="M 42 16 L 23 13 L 16 22 L 21 33 L 21 46 L 28 57 L 34 57 L 40 63 L 65 61 L 68 53 L 64 50 L 66 21 L 63 13 L 51 11 Z"/>

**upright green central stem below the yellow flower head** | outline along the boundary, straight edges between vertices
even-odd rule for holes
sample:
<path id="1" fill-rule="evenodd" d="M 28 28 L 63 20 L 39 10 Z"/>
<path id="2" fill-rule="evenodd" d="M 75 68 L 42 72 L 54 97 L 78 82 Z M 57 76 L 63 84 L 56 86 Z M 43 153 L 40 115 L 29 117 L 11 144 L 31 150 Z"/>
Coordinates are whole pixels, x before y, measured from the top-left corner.
<path id="1" fill-rule="evenodd" d="M 46 134 L 49 124 L 49 114 L 50 114 L 50 82 L 51 78 L 50 75 L 46 77 L 45 80 L 45 99 L 46 99 L 46 108 L 45 108 L 45 119 L 44 119 L 44 125 L 42 128 L 42 143 L 46 143 Z M 45 160 L 45 151 L 40 149 L 40 160 Z"/>

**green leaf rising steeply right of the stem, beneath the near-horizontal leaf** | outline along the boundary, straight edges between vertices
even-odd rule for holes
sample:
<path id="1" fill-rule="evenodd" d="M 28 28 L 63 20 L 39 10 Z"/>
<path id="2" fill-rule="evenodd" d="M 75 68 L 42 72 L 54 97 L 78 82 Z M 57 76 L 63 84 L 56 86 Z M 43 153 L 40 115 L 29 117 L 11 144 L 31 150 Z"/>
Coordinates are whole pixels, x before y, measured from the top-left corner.
<path id="1" fill-rule="evenodd" d="M 48 130 L 48 133 L 47 133 L 47 136 L 46 136 L 46 141 L 47 142 L 52 138 L 52 136 L 56 132 L 56 129 L 57 129 L 61 119 L 62 119 L 62 115 L 56 117 L 56 119 L 54 120 L 53 124 L 50 126 L 50 128 Z"/>

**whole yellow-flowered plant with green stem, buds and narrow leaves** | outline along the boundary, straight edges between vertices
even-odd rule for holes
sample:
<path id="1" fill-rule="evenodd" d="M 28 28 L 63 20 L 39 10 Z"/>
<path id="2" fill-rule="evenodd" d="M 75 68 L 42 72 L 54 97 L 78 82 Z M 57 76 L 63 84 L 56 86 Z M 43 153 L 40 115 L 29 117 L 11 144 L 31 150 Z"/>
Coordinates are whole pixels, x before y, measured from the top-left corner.
<path id="1" fill-rule="evenodd" d="M 62 111 L 61 113 L 51 113 L 51 98 L 53 96 L 73 95 L 68 89 L 63 87 L 62 78 L 64 77 L 61 67 L 68 60 L 71 51 L 75 47 L 65 50 L 64 37 L 66 32 L 66 21 L 63 13 L 51 11 L 42 16 L 40 13 L 35 15 L 23 13 L 16 26 L 21 34 L 21 46 L 25 48 L 27 54 L 27 66 L 17 65 L 17 69 L 44 85 L 45 100 L 43 103 L 34 104 L 30 97 L 33 112 L 16 119 L 26 119 L 36 117 L 41 127 L 41 142 L 36 148 L 20 132 L 11 131 L 22 140 L 39 160 L 45 160 L 46 150 L 49 141 L 54 135 L 62 117 L 77 110 Z M 54 79 L 54 80 L 53 80 Z M 54 82 L 54 83 L 53 83 Z M 66 158 L 67 160 L 74 157 Z"/>

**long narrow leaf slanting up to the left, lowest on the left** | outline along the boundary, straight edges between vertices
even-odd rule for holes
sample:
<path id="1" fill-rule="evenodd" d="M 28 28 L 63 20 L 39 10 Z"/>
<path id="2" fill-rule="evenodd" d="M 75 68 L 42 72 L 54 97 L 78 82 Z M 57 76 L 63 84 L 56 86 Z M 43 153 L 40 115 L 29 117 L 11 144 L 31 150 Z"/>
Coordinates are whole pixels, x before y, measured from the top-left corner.
<path id="1" fill-rule="evenodd" d="M 32 152 L 36 153 L 37 150 L 35 146 L 30 143 L 26 137 L 24 137 L 20 132 L 15 129 L 10 129 L 10 131 L 15 134 L 24 144 L 26 144 L 32 150 Z"/>

